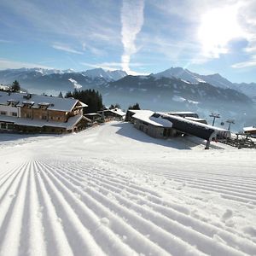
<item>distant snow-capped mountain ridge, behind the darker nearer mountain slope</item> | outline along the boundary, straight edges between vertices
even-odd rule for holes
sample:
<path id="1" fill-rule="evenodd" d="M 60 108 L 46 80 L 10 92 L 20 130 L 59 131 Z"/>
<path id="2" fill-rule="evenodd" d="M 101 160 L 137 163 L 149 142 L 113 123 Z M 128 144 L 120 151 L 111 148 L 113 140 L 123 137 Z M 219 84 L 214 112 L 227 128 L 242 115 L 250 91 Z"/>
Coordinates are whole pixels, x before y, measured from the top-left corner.
<path id="1" fill-rule="evenodd" d="M 11 84 L 18 80 L 26 90 L 73 90 L 73 83 L 81 84 L 81 88 L 109 86 L 109 83 L 124 79 L 127 73 L 122 70 L 108 71 L 102 68 L 94 68 L 83 72 L 75 72 L 73 69 L 58 70 L 44 68 L 20 68 L 6 69 L 0 71 L 0 84 Z M 182 67 L 171 67 L 160 73 L 149 75 L 154 79 L 180 79 L 187 84 L 212 84 L 222 89 L 237 90 L 246 96 L 256 100 L 256 84 L 236 84 L 224 79 L 218 73 L 201 75 L 193 73 Z M 136 76 L 135 76 L 136 77 Z M 140 79 L 147 79 L 148 76 L 138 76 Z"/>

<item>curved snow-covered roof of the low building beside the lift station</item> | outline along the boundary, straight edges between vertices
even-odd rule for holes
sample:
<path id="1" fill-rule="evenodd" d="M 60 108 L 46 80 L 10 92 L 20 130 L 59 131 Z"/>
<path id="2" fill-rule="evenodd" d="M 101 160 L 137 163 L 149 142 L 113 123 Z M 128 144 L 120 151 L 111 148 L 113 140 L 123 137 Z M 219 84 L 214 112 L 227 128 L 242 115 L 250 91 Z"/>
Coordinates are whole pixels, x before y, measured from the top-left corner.
<path id="1" fill-rule="evenodd" d="M 151 110 L 136 110 L 136 113 L 132 118 L 142 120 L 150 125 L 159 126 L 159 127 L 172 127 L 172 122 L 161 117 L 155 118 L 152 115 L 154 114 Z"/>

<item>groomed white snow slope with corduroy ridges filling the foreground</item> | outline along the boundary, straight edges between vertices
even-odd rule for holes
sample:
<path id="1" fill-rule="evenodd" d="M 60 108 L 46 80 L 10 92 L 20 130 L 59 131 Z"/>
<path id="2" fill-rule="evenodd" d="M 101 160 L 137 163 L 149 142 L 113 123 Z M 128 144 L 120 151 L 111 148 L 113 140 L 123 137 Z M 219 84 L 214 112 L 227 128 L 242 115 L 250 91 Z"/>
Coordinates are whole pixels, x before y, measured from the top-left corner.
<path id="1" fill-rule="evenodd" d="M 118 122 L 0 134 L 0 255 L 256 255 L 255 155 Z"/>

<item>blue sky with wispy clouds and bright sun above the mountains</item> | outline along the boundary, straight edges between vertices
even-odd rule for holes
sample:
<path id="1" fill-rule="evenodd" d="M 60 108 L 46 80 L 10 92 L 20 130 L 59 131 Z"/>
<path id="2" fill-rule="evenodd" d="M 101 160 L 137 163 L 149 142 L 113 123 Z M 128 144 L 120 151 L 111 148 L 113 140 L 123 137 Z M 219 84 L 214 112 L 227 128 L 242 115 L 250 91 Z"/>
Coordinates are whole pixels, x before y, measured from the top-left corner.
<path id="1" fill-rule="evenodd" d="M 256 0 L 1 0 L 0 69 L 185 67 L 256 82 Z"/>

